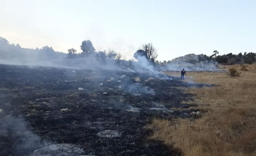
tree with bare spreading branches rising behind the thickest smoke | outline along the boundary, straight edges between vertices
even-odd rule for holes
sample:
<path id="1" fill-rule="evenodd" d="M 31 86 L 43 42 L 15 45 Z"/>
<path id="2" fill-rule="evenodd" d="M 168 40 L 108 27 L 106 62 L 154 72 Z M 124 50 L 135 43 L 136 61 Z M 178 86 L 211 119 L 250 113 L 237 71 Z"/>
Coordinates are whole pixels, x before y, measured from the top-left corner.
<path id="1" fill-rule="evenodd" d="M 145 56 L 149 61 L 157 58 L 156 48 L 152 45 L 152 43 L 146 43 L 141 45 L 140 49 L 135 52 L 133 55 L 134 58 L 138 58 L 138 56 Z"/>

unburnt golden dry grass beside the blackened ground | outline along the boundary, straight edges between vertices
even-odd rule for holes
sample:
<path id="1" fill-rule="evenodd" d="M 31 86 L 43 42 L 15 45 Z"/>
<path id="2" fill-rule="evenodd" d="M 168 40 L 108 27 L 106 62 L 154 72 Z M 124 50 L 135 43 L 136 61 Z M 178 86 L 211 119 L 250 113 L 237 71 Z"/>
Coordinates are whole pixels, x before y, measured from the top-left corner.
<path id="1" fill-rule="evenodd" d="M 238 70 L 240 66 L 227 66 L 226 70 L 229 68 Z M 256 156 L 256 65 L 247 68 L 240 77 L 188 72 L 186 81 L 219 84 L 186 89 L 194 94 L 198 109 L 208 112 L 195 120 L 155 119 L 149 126 L 154 131 L 151 138 L 174 145 L 185 156 Z"/>

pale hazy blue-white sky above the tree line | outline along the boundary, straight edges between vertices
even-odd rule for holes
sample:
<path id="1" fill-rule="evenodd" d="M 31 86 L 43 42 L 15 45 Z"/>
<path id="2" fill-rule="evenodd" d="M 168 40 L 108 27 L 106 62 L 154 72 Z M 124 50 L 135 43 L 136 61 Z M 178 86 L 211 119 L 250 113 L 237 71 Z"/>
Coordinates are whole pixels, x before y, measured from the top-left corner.
<path id="1" fill-rule="evenodd" d="M 153 43 L 157 60 L 256 52 L 255 0 L 0 0 L 0 36 L 21 47 L 113 49 Z"/>

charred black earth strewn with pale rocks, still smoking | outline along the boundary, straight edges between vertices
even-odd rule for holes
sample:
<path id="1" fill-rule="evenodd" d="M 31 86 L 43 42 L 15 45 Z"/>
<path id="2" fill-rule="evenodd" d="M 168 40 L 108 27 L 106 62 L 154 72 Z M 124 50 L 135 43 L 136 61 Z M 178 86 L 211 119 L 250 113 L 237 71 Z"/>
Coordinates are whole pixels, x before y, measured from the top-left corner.
<path id="1" fill-rule="evenodd" d="M 161 74 L 3 64 L 0 82 L 1 156 L 174 155 L 145 126 L 190 117 L 172 111 L 193 100 L 178 87 L 203 86 Z"/>

